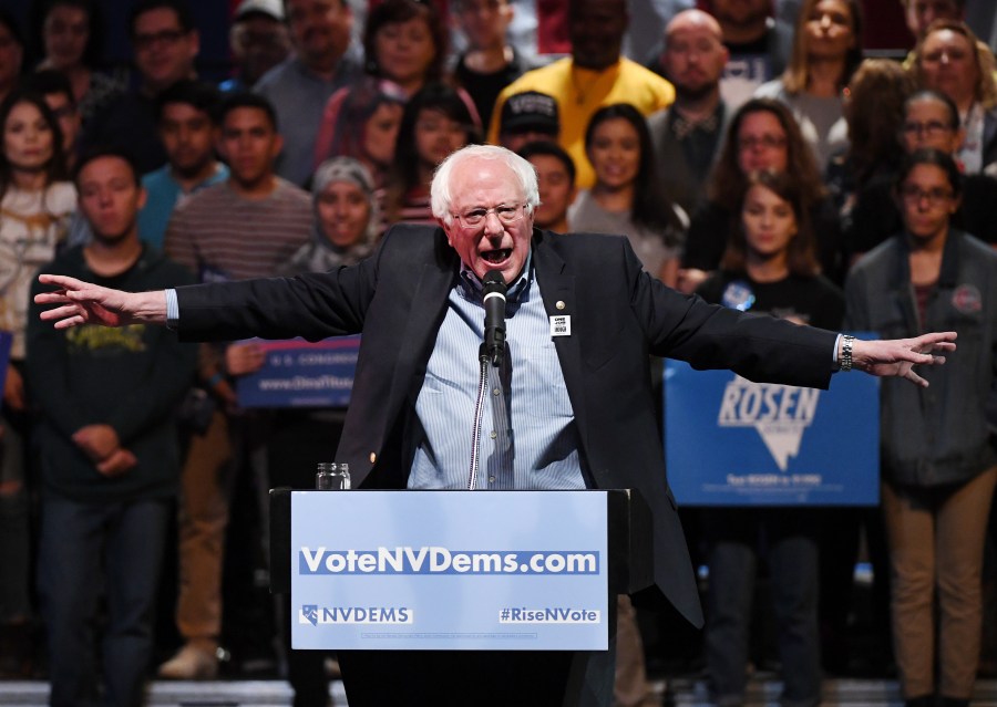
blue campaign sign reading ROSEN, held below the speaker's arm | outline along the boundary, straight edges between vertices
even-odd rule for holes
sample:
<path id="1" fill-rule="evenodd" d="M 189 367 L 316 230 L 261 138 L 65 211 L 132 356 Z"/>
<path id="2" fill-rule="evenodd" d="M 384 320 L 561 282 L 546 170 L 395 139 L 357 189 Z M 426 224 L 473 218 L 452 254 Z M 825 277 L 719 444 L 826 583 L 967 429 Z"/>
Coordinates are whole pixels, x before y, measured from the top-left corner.
<path id="1" fill-rule="evenodd" d="M 666 361 L 665 451 L 688 506 L 875 506 L 878 381 L 836 374 L 819 391 Z"/>

